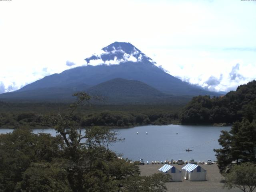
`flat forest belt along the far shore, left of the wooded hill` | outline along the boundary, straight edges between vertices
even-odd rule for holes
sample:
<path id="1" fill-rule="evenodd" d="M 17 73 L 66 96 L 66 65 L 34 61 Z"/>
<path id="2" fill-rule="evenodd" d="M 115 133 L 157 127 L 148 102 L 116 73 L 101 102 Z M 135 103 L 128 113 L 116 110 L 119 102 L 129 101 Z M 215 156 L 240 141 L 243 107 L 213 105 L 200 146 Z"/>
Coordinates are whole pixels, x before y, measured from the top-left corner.
<path id="1" fill-rule="evenodd" d="M 132 127 L 179 122 L 181 105 L 90 105 L 79 106 L 72 118 L 81 127 Z M 69 105 L 61 103 L 0 102 L 0 127 L 53 127 L 54 116 L 67 116 Z"/>

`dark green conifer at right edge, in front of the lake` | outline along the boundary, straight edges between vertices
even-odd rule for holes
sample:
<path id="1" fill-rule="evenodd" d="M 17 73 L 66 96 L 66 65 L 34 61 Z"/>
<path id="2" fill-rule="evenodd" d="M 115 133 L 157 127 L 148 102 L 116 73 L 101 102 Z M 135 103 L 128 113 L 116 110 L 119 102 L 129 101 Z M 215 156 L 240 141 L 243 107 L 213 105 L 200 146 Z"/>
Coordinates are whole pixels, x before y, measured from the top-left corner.
<path id="1" fill-rule="evenodd" d="M 229 132 L 222 131 L 216 152 L 217 163 L 221 173 L 229 170 L 232 163 L 256 163 L 256 120 L 244 119 L 233 124 Z"/>

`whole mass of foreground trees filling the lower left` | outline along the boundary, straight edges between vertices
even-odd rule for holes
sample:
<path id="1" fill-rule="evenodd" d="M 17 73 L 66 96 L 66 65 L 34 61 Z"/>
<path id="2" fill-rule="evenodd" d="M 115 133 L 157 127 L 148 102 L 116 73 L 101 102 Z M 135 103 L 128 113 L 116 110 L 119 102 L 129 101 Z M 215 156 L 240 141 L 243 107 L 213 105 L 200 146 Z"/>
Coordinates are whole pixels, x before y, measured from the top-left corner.
<path id="1" fill-rule="evenodd" d="M 118 141 L 114 132 L 101 127 L 85 135 L 79 131 L 72 114 L 90 97 L 76 96 L 68 116 L 54 117 L 56 137 L 24 127 L 0 135 L 0 192 L 116 192 L 118 186 L 127 191 L 134 179 L 142 181 L 138 192 L 166 191 L 166 176 L 140 177 L 138 166 L 108 149 Z"/>

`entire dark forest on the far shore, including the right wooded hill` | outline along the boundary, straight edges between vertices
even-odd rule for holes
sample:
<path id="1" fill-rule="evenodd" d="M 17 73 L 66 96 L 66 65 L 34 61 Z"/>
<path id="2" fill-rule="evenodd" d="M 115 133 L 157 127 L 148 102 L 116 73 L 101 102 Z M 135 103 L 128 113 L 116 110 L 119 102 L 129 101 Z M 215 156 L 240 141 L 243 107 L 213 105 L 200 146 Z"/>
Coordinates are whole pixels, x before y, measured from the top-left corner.
<path id="1" fill-rule="evenodd" d="M 53 127 L 54 115 L 65 116 L 66 103 L 0 102 L 0 127 Z M 183 105 L 90 105 L 79 106 L 73 114 L 81 127 L 132 127 L 146 124 L 231 124 L 256 118 L 256 81 L 238 86 L 225 96 L 197 96 Z"/>

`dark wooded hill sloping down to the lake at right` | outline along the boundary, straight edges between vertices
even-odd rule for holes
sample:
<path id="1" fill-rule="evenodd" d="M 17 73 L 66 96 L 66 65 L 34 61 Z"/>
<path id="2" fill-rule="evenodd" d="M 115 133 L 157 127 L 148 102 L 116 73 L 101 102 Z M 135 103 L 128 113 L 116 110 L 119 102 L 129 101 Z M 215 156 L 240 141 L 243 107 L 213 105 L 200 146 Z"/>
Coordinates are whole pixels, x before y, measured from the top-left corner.
<path id="1" fill-rule="evenodd" d="M 194 97 L 180 114 L 182 124 L 233 123 L 256 119 L 256 81 L 240 85 L 225 96 Z"/>

